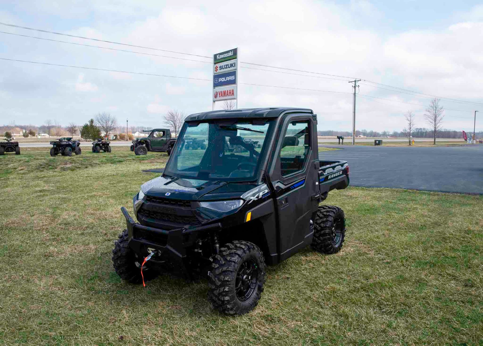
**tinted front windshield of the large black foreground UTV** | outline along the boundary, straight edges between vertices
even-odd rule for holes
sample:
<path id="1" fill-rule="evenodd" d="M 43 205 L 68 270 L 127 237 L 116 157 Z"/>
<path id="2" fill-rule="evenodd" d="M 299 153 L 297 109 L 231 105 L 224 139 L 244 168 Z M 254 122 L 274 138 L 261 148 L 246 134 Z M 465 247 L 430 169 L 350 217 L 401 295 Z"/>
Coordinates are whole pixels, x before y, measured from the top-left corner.
<path id="1" fill-rule="evenodd" d="M 272 120 L 185 123 L 164 171 L 186 179 L 255 180 Z"/>

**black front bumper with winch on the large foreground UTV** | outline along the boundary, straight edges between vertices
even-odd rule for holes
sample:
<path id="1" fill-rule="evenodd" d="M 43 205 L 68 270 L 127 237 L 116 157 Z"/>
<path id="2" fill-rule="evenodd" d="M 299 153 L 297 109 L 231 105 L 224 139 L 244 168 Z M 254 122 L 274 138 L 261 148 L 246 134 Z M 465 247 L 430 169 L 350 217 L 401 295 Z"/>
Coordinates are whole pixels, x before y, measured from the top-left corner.
<path id="1" fill-rule="evenodd" d="M 155 252 L 156 256 L 149 261 L 150 266 L 168 271 L 181 277 L 191 277 L 188 267 L 186 248 L 192 246 L 199 232 L 216 231 L 221 229 L 220 223 L 210 225 L 162 230 L 155 227 L 143 226 L 134 221 L 124 207 L 121 208 L 126 218 L 129 248 L 139 257 L 146 257 Z M 154 268 L 156 269 L 156 268 Z"/>

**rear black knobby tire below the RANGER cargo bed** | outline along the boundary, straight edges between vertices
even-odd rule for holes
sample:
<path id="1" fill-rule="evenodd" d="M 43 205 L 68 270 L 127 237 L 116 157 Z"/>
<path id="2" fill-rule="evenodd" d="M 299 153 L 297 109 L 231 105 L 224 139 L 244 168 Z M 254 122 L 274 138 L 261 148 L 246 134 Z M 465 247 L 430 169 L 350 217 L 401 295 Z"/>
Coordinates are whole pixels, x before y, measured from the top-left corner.
<path id="1" fill-rule="evenodd" d="M 341 208 L 320 206 L 313 228 L 312 249 L 325 254 L 341 250 L 345 238 L 345 216 Z"/>

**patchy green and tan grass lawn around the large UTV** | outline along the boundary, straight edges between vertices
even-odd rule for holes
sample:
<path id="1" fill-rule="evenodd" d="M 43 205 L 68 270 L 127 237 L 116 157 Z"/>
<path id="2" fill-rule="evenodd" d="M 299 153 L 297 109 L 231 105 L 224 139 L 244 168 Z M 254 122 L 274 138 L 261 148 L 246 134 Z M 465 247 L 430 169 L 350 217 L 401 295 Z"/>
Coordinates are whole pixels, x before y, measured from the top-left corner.
<path id="1" fill-rule="evenodd" d="M 122 282 L 111 249 L 167 156 L 0 156 L 0 345 L 483 345 L 483 196 L 350 187 L 342 251 L 268 268 L 257 308 L 211 310 L 206 281 Z"/>

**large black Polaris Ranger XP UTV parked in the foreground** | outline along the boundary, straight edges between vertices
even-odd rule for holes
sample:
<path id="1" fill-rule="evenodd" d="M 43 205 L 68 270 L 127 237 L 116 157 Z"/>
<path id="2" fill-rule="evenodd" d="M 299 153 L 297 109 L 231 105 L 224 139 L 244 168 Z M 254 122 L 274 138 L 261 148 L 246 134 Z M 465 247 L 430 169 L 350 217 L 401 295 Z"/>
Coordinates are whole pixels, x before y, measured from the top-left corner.
<path id="1" fill-rule="evenodd" d="M 202 136 L 206 149 L 186 150 L 185 138 Z M 230 152 L 228 144 L 245 150 Z M 114 269 L 131 283 L 160 273 L 207 277 L 213 308 L 247 313 L 263 291 L 267 264 L 308 245 L 325 254 L 341 249 L 344 213 L 319 204 L 348 184 L 345 161 L 319 160 L 311 110 L 189 115 L 162 176 L 133 198 L 138 222 L 121 208 L 127 228 L 114 244 Z"/>

